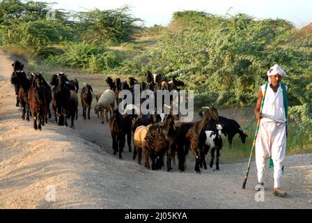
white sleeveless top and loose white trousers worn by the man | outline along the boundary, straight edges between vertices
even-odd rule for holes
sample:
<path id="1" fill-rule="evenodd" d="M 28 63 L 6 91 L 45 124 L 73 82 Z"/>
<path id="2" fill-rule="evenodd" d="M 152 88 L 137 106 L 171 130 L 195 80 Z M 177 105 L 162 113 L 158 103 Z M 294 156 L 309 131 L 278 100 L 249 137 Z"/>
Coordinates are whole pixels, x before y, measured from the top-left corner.
<path id="1" fill-rule="evenodd" d="M 261 86 L 264 93 L 265 86 Z M 286 153 L 286 117 L 283 105 L 283 90 L 281 86 L 276 93 L 267 86 L 263 105 L 263 119 L 260 121 L 256 139 L 256 165 L 258 182 L 264 183 L 265 159 L 272 156 L 274 162 L 274 188 L 280 187 L 283 176 L 283 159 Z"/>

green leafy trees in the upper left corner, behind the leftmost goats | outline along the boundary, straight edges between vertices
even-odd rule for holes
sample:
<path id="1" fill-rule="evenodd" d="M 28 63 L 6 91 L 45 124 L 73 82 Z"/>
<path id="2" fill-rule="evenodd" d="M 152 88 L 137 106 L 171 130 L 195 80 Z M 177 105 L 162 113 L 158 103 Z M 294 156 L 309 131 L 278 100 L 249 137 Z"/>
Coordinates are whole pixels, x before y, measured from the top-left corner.
<path id="1" fill-rule="evenodd" d="M 51 3 L 3 0 L 0 1 L 1 40 L 8 44 L 38 49 L 45 45 L 73 40 L 75 33 L 70 13 L 55 10 L 55 20 L 47 20 Z M 7 36 L 3 36 L 8 33 Z"/>

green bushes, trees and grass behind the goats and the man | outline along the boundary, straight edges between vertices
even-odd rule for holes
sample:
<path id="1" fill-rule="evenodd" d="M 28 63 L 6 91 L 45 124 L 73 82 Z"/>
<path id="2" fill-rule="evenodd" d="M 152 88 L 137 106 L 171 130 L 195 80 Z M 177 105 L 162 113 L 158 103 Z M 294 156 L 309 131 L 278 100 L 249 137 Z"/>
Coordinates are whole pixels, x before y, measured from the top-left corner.
<path id="1" fill-rule="evenodd" d="M 289 86 L 288 154 L 312 151 L 312 24 L 296 29 L 286 20 L 182 11 L 173 13 L 168 26 L 145 27 L 128 6 L 56 10 L 55 20 L 47 20 L 52 6 L 0 2 L 0 45 L 32 70 L 47 77 L 69 71 L 95 85 L 104 75 L 143 80 L 147 70 L 166 77 L 182 74 L 179 79 L 196 93 L 196 107 L 240 111 L 233 118 L 249 134 L 247 144 L 235 137 L 230 150 L 224 140 L 222 155 L 236 162 L 248 157 L 256 125 L 250 107 L 267 69 L 278 63 L 288 74 L 283 79 Z"/>

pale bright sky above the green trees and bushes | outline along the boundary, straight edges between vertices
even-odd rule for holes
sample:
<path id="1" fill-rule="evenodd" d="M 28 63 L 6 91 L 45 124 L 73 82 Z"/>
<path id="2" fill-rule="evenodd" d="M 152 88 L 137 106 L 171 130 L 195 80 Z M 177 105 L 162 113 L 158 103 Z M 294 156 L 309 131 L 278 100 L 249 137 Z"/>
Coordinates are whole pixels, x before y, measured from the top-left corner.
<path id="1" fill-rule="evenodd" d="M 40 0 L 56 2 L 54 8 L 85 11 L 99 8 L 109 10 L 128 5 L 135 17 L 144 21 L 145 26 L 160 24 L 166 26 L 174 12 L 200 10 L 215 15 L 245 13 L 259 19 L 279 18 L 302 28 L 312 22 L 311 0 Z"/>

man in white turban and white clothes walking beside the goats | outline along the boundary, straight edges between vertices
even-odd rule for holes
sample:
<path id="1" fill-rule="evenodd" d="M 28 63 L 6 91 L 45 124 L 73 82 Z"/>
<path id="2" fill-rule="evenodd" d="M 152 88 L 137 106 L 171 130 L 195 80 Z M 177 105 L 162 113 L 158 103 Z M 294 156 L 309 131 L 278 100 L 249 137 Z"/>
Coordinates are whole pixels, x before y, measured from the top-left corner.
<path id="1" fill-rule="evenodd" d="M 283 160 L 286 153 L 288 100 L 286 91 L 288 86 L 281 84 L 286 72 L 275 64 L 267 72 L 269 82 L 260 86 L 258 102 L 254 114 L 260 122 L 258 137 L 256 138 L 256 166 L 258 184 L 256 190 L 264 185 L 265 159 L 271 157 L 274 164 L 273 194 L 284 197 L 287 192 L 281 190 L 283 176 Z M 264 102 L 263 102 L 264 97 Z M 261 105 L 262 104 L 262 105 Z M 262 110 L 260 112 L 262 106 Z"/>

